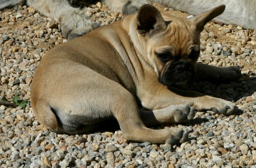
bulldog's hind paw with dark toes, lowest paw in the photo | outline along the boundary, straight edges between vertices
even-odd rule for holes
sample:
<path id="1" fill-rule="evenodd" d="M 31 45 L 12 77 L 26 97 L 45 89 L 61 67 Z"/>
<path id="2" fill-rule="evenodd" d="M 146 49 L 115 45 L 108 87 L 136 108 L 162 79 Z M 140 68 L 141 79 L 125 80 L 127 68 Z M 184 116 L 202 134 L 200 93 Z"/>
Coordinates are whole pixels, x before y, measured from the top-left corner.
<path id="1" fill-rule="evenodd" d="M 177 144 L 177 143 L 186 142 L 187 140 L 188 140 L 188 132 L 180 130 L 177 133 L 175 133 L 174 135 L 169 135 L 166 138 L 165 143 L 174 145 L 174 144 Z"/>

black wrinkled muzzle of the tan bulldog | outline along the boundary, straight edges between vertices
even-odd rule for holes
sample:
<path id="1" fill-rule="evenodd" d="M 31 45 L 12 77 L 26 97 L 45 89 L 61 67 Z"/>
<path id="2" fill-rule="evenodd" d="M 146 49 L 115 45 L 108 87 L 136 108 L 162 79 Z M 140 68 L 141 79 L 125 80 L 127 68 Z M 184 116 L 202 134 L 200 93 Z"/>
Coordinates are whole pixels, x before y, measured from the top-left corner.
<path id="1" fill-rule="evenodd" d="M 165 86 L 194 82 L 196 80 L 196 70 L 188 61 L 175 61 L 170 65 L 166 65 L 158 80 Z"/>

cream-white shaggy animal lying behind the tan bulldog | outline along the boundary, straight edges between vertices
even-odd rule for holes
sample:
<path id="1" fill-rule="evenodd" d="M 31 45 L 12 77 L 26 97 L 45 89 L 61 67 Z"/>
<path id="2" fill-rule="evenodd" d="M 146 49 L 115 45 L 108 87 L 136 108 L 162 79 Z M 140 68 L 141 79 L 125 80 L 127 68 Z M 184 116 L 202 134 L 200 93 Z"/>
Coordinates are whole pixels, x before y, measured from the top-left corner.
<path id="1" fill-rule="evenodd" d="M 27 2 L 46 17 L 51 17 L 60 22 L 64 37 L 73 39 L 86 34 L 99 26 L 86 15 L 87 8 L 79 9 L 70 5 L 72 0 L 0 0 L 0 10 L 16 4 Z M 103 0 L 110 10 L 122 11 L 128 0 Z M 242 26 L 243 28 L 256 28 L 256 0 L 153 0 L 176 10 L 182 10 L 191 15 L 197 15 L 210 10 L 220 4 L 226 5 L 223 14 L 216 17 L 217 21 L 225 24 Z M 129 6 L 138 9 L 148 0 L 131 0 Z"/>

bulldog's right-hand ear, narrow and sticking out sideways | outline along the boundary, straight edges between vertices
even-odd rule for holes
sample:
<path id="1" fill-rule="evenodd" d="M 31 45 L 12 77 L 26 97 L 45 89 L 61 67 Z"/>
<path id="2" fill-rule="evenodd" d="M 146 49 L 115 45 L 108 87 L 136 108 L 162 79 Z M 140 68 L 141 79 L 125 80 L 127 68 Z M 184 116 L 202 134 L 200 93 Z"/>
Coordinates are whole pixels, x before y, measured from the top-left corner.
<path id="1" fill-rule="evenodd" d="M 214 17 L 217 17 L 220 14 L 222 14 L 225 10 L 225 7 L 226 7 L 225 5 L 220 5 L 220 6 L 213 8 L 212 10 L 205 11 L 205 12 L 203 12 L 195 17 L 191 17 L 189 19 L 192 20 L 194 23 L 196 23 L 197 30 L 202 32 L 204 30 L 204 25 L 207 22 L 211 21 Z"/>

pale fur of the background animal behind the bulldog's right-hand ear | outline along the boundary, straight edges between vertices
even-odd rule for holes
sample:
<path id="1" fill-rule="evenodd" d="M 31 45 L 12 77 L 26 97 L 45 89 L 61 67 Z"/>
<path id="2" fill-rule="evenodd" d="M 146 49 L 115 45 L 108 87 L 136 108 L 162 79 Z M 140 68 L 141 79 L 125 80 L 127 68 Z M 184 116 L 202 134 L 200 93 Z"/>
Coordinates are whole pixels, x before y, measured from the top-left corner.
<path id="1" fill-rule="evenodd" d="M 242 26 L 245 29 L 256 28 L 256 0 L 154 0 L 156 3 L 172 7 L 176 10 L 198 15 L 217 5 L 226 5 L 225 11 L 215 20 Z"/>

